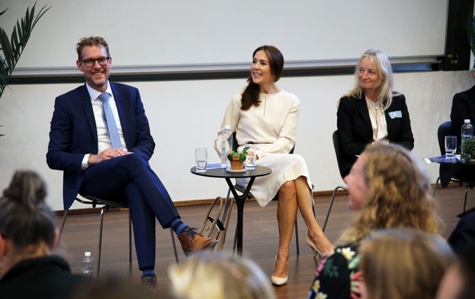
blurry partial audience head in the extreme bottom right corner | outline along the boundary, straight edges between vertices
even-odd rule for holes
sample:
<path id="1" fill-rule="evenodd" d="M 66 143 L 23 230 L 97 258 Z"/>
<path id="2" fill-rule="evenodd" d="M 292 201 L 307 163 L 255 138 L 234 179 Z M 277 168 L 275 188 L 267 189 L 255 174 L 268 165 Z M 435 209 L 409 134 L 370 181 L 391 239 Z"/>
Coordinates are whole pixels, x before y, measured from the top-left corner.
<path id="1" fill-rule="evenodd" d="M 458 254 L 445 272 L 436 299 L 472 299 L 475 297 L 475 243 Z"/>

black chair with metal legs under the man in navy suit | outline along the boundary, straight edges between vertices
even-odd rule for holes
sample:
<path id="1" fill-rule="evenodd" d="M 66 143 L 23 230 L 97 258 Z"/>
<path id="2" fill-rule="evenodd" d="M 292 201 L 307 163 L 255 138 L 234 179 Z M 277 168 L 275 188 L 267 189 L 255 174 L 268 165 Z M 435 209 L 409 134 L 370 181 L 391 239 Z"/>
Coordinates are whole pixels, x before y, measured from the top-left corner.
<path id="1" fill-rule="evenodd" d="M 129 205 L 126 201 L 110 201 L 110 200 L 104 200 L 104 199 L 98 199 L 93 196 L 88 196 L 88 195 L 82 195 L 84 198 L 88 199 L 87 200 L 82 200 L 76 197 L 76 201 L 79 203 L 85 203 L 85 204 L 91 204 L 93 208 L 95 208 L 96 205 L 104 205 L 101 209 L 101 224 L 99 225 L 99 246 L 97 249 L 97 274 L 96 278 L 99 278 L 99 270 L 100 270 L 100 264 L 101 264 L 101 244 L 102 244 L 102 223 L 103 223 L 103 218 L 104 218 L 104 210 L 108 211 L 110 208 L 129 208 Z M 64 217 L 63 217 L 63 223 L 61 224 L 61 230 L 59 231 L 59 236 L 58 236 L 58 241 L 57 244 L 59 244 L 59 240 L 61 240 L 61 234 L 63 233 L 63 228 L 64 228 L 64 223 L 66 222 L 66 216 L 67 216 L 68 210 L 64 211 Z M 175 252 L 175 260 L 176 263 L 178 264 L 178 254 L 177 254 L 177 249 L 175 245 L 175 238 L 173 237 L 173 230 L 170 228 L 170 233 L 171 233 L 171 242 L 173 244 L 173 251 Z M 129 261 L 132 261 L 132 220 L 130 219 L 130 212 L 129 212 Z"/>

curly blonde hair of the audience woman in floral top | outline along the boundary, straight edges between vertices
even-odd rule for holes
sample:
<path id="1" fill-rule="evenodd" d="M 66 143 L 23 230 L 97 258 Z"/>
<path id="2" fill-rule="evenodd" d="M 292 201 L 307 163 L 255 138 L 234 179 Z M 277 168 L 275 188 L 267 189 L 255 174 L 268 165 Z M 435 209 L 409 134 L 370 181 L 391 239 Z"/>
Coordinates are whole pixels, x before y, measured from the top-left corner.
<path id="1" fill-rule="evenodd" d="M 370 192 L 339 242 L 359 241 L 377 229 L 412 227 L 437 232 L 439 219 L 429 179 L 413 154 L 399 145 L 375 143 L 359 159 L 363 159 Z"/>

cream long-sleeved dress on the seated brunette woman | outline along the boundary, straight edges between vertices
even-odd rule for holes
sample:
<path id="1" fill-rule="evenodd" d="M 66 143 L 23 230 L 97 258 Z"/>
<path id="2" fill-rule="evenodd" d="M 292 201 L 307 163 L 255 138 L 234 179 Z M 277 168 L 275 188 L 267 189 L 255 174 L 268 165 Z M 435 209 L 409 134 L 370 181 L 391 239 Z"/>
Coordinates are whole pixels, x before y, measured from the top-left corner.
<path id="1" fill-rule="evenodd" d="M 259 106 L 251 106 L 244 111 L 240 108 L 241 94 L 233 96 L 226 108 L 214 147 L 218 155 L 221 155 L 221 134 L 225 125 L 231 126 L 232 133 L 237 131 L 239 151 L 248 143 L 256 144 L 256 154 L 259 157 L 256 165 L 272 169 L 272 174 L 257 177 L 250 190 L 257 203 L 264 207 L 285 182 L 303 175 L 307 178 L 309 188 L 312 183 L 304 158 L 298 154 L 289 154 L 295 144 L 299 99 L 284 90 L 276 94 L 261 93 L 259 98 Z M 249 180 L 237 179 L 237 184 L 246 187 Z"/>

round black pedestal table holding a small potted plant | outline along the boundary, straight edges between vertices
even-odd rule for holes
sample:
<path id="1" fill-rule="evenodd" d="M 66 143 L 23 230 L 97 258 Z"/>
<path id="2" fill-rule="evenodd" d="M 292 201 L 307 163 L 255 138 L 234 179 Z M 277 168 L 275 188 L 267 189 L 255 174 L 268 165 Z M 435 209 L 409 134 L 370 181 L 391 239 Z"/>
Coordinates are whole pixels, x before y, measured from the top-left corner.
<path id="1" fill-rule="evenodd" d="M 254 183 L 254 179 L 256 179 L 258 176 L 264 176 L 267 174 L 272 173 L 272 169 L 269 167 L 265 166 L 259 166 L 256 165 L 256 169 L 254 170 L 246 170 L 245 172 L 242 173 L 229 173 L 226 171 L 224 168 L 217 168 L 217 169 L 207 169 L 205 172 L 198 172 L 196 171 L 196 167 L 191 167 L 190 172 L 192 174 L 197 174 L 201 176 L 208 176 L 208 177 L 221 177 L 225 178 L 226 182 L 228 183 L 229 189 L 234 195 L 234 198 L 236 199 L 236 206 L 237 206 L 237 252 L 242 255 L 242 216 L 244 212 L 244 203 L 246 202 L 247 194 L 249 193 L 249 190 L 251 189 L 252 184 Z M 251 179 L 249 180 L 249 183 L 247 184 L 246 191 L 242 195 L 237 195 L 236 189 L 234 188 L 234 185 L 231 183 L 231 179 L 235 178 L 248 178 L 250 177 Z"/>

